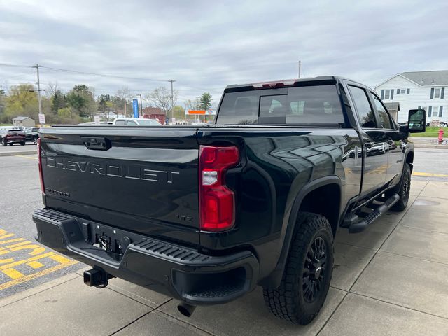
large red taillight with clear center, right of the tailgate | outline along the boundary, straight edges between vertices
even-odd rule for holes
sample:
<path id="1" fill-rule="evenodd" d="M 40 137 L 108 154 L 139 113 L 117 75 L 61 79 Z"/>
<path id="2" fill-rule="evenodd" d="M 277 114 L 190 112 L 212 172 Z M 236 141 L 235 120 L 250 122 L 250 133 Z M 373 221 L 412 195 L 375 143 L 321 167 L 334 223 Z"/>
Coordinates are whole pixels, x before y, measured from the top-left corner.
<path id="1" fill-rule="evenodd" d="M 237 147 L 200 146 L 200 228 L 223 231 L 235 223 L 235 194 L 225 186 L 225 171 L 237 164 Z"/>

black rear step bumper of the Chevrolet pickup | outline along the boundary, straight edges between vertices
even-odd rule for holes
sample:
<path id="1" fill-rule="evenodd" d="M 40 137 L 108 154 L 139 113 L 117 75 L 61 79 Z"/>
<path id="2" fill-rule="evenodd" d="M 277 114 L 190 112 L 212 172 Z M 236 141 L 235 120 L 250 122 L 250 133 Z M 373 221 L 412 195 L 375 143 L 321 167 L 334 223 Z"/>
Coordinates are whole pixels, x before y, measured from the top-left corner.
<path id="1" fill-rule="evenodd" d="M 50 209 L 34 212 L 33 221 L 38 232 L 36 239 L 41 244 L 189 304 L 230 302 L 253 290 L 258 280 L 258 260 L 250 251 L 205 255 L 193 248 L 135 235 Z M 111 232 L 110 235 L 116 235 L 119 241 L 126 237 L 120 243 L 123 253 L 110 253 L 93 246 L 94 232 Z"/>

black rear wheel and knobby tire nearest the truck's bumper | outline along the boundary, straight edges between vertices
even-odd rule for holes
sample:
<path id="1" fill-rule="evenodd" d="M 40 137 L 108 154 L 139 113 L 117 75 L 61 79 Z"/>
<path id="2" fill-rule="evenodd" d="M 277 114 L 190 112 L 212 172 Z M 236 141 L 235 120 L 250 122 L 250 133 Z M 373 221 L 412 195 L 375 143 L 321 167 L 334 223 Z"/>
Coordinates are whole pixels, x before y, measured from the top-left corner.
<path id="1" fill-rule="evenodd" d="M 333 255 L 333 234 L 328 219 L 299 212 L 280 286 L 263 288 L 269 310 L 293 323 L 310 323 L 327 297 Z"/>

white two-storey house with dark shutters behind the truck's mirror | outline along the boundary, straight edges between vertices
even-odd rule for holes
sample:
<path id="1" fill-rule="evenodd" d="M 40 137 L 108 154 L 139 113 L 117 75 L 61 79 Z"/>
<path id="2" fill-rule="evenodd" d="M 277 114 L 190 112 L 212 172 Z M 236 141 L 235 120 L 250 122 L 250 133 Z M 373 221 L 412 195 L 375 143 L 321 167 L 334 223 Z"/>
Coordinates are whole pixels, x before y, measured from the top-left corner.
<path id="1" fill-rule="evenodd" d="M 447 70 L 398 73 L 375 87 L 384 103 L 399 103 L 400 111 L 395 116 L 398 123 L 407 121 L 411 109 L 425 109 L 428 123 L 448 123 L 447 89 Z"/>

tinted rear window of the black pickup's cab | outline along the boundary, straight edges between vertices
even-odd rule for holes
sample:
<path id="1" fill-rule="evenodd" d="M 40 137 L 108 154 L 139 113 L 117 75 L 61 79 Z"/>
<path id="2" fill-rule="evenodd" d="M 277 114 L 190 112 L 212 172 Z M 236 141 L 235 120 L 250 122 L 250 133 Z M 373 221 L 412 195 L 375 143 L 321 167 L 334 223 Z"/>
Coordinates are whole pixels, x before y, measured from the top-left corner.
<path id="1" fill-rule="evenodd" d="M 335 85 L 229 92 L 218 124 L 309 125 L 344 123 Z"/>

